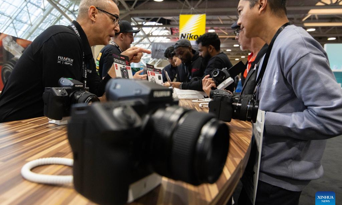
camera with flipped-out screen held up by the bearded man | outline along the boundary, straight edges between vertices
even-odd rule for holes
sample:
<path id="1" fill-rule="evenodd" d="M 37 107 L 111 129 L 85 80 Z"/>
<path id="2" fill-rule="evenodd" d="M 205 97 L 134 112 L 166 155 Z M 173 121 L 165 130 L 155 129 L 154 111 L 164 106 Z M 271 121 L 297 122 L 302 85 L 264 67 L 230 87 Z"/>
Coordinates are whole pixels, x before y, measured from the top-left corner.
<path id="1" fill-rule="evenodd" d="M 221 90 L 228 85 L 232 84 L 234 82 L 235 76 L 237 76 L 239 73 L 244 71 L 246 69 L 246 66 L 242 61 L 239 61 L 237 64 L 235 64 L 233 67 L 227 69 L 222 68 L 220 69 L 214 69 L 211 71 L 211 77 L 215 81 L 216 88 Z"/>

